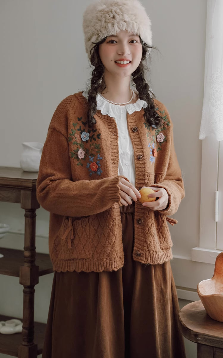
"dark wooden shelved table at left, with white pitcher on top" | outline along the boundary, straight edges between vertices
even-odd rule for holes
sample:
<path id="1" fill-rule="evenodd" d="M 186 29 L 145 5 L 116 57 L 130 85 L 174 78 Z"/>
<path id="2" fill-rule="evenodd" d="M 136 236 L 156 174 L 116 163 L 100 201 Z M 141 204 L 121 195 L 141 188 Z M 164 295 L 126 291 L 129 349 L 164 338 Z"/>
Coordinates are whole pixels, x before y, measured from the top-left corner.
<path id="1" fill-rule="evenodd" d="M 40 207 L 36 199 L 37 175 L 21 168 L 0 167 L 0 201 L 20 203 L 25 211 L 23 250 L 0 248 L 4 255 L 0 258 L 0 274 L 19 277 L 24 286 L 22 333 L 0 334 L 0 353 L 19 358 L 36 358 L 42 353 L 46 325 L 34 322 L 34 287 L 39 276 L 53 272 L 49 255 L 36 253 L 36 209 Z M 10 240 L 10 233 L 7 235 Z M 0 321 L 9 319 L 0 315 Z"/>

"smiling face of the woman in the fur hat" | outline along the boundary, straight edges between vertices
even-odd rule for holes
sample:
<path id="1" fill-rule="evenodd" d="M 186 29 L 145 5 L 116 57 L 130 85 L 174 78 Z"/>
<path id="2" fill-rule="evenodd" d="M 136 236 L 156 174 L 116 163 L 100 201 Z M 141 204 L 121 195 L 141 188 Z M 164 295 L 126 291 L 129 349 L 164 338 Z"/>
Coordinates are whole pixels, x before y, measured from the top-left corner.
<path id="1" fill-rule="evenodd" d="M 107 72 L 113 76 L 131 76 L 142 59 L 140 37 L 127 31 L 107 37 L 105 42 L 99 45 L 99 56 L 105 67 L 105 74 Z"/>

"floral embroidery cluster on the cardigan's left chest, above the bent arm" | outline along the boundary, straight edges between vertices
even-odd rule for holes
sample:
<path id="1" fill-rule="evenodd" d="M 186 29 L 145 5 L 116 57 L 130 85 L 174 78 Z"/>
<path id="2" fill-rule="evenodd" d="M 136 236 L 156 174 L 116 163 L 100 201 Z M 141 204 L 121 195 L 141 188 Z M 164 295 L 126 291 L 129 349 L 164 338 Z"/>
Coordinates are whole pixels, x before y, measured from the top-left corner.
<path id="1" fill-rule="evenodd" d="M 95 173 L 101 175 L 100 160 L 103 159 L 100 156 L 101 146 L 99 140 L 101 139 L 101 133 L 97 133 L 97 129 L 88 128 L 85 130 L 86 125 L 87 121 L 83 122 L 82 117 L 77 118 L 77 122 L 73 123 L 73 128 L 68 137 L 68 141 L 72 142 L 74 146 L 70 156 L 77 160 L 77 165 L 81 166 L 83 166 L 83 160 L 89 158 L 90 163 L 86 165 L 86 168 L 90 171 L 89 175 L 91 176 Z M 97 160 L 94 162 L 95 156 Z"/>

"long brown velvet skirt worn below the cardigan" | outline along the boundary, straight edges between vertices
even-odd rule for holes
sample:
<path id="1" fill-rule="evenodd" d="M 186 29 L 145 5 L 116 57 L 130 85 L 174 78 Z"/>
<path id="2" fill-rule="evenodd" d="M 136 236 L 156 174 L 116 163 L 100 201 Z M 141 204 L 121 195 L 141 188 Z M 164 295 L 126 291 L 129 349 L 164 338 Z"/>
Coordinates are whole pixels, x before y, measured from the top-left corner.
<path id="1" fill-rule="evenodd" d="M 121 207 L 122 269 L 55 272 L 42 358 L 185 358 L 170 262 L 133 261 L 134 205 Z"/>

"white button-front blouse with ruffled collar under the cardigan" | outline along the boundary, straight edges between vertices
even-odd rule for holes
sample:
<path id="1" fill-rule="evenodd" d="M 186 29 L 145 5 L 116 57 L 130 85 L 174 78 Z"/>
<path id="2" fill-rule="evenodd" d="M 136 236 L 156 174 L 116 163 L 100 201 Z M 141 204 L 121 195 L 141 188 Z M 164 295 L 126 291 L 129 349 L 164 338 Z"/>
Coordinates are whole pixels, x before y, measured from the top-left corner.
<path id="1" fill-rule="evenodd" d="M 87 99 L 87 91 L 83 92 L 83 96 Z M 136 103 L 131 103 L 125 106 L 113 105 L 107 102 L 100 95 L 96 96 L 97 110 L 100 110 L 103 115 L 113 117 L 118 128 L 118 175 L 125 175 L 126 178 L 135 185 L 135 160 L 132 141 L 127 127 L 127 112 L 132 114 L 135 111 L 140 111 L 147 107 L 146 101 L 138 100 Z"/>

